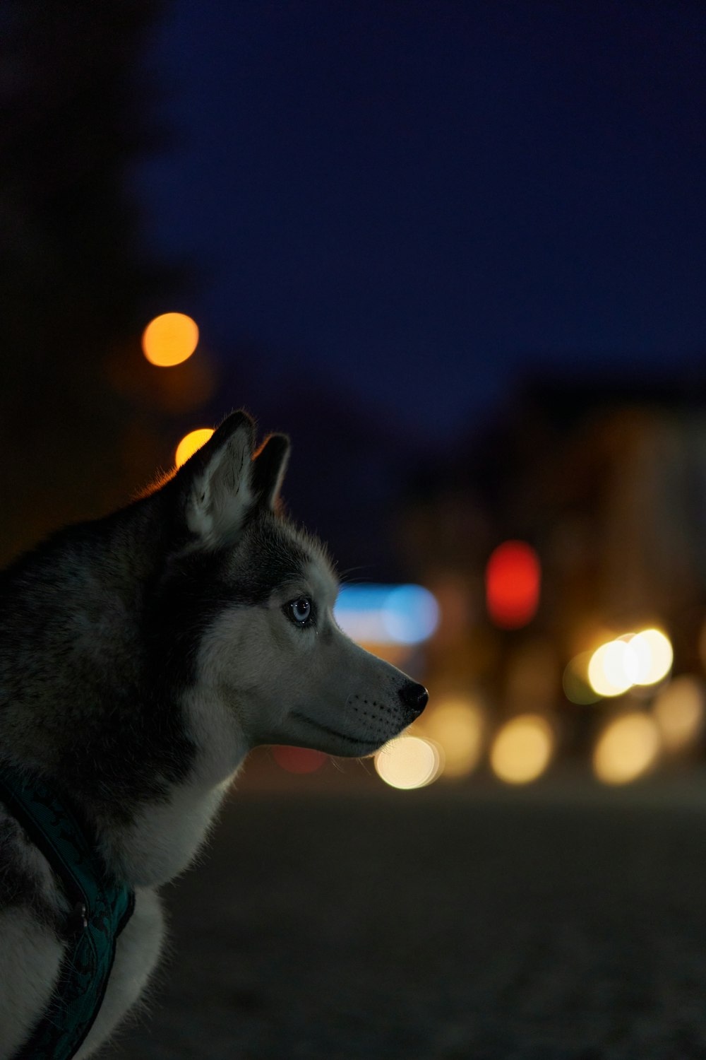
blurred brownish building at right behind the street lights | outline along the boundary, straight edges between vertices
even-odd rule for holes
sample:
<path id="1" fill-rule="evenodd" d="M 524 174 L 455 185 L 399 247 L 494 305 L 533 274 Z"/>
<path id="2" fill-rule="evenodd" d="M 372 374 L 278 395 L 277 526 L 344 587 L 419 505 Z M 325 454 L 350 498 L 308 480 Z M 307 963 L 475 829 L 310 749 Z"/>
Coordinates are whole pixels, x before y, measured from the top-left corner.
<path id="1" fill-rule="evenodd" d="M 597 711 L 627 709 L 636 690 L 569 702 L 573 658 L 657 626 L 673 644 L 673 673 L 701 677 L 703 399 L 703 386 L 535 379 L 497 422 L 416 477 L 399 540 L 413 577 L 440 604 L 428 647 L 433 695 L 479 696 L 496 719 L 548 713 L 565 749 L 583 754 Z M 487 563 L 512 540 L 539 556 L 539 606 L 499 629 Z M 640 708 L 650 694 L 640 693 Z"/>

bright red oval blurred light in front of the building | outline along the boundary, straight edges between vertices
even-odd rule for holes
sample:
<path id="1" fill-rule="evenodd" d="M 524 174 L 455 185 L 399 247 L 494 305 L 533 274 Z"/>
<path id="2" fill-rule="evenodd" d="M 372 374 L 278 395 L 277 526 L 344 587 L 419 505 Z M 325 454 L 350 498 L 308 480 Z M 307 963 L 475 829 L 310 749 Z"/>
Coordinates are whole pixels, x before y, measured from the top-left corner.
<path id="1" fill-rule="evenodd" d="M 541 568 L 535 549 L 523 541 L 499 545 L 486 567 L 486 606 L 503 630 L 526 625 L 540 600 Z"/>

